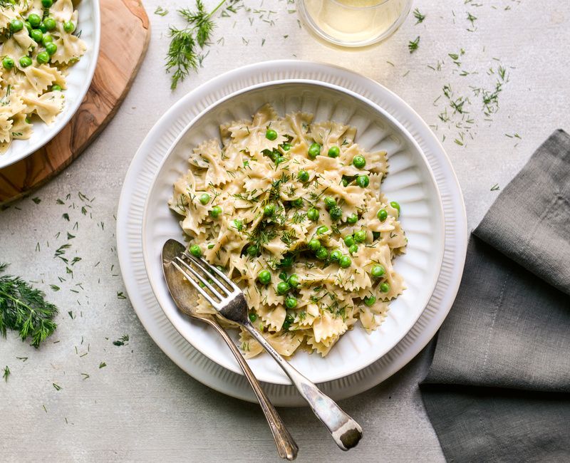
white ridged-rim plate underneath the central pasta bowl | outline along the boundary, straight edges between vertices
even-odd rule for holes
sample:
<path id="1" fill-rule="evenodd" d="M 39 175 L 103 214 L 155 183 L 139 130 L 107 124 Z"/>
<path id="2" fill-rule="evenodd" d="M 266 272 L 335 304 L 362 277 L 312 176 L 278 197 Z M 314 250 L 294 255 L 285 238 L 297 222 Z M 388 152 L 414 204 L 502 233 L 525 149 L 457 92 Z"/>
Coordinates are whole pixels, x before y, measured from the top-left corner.
<path id="1" fill-rule="evenodd" d="M 382 358 L 352 375 L 321 383 L 336 400 L 368 390 L 393 375 L 425 347 L 447 316 L 459 287 L 467 249 L 467 219 L 457 178 L 440 143 L 420 116 L 382 85 L 343 68 L 304 61 L 268 61 L 210 80 L 182 98 L 142 142 L 125 177 L 118 208 L 118 255 L 130 301 L 162 350 L 188 374 L 219 392 L 255 402 L 242 375 L 222 368 L 187 343 L 160 308 L 142 256 L 142 215 L 155 173 L 177 136 L 204 109 L 225 96 L 259 83 L 284 79 L 321 80 L 351 90 L 380 105 L 418 142 L 440 190 L 445 220 L 445 252 L 430 302 L 413 328 Z M 388 177 L 389 178 L 389 177 Z M 305 405 L 294 387 L 264 384 L 278 406 Z"/>

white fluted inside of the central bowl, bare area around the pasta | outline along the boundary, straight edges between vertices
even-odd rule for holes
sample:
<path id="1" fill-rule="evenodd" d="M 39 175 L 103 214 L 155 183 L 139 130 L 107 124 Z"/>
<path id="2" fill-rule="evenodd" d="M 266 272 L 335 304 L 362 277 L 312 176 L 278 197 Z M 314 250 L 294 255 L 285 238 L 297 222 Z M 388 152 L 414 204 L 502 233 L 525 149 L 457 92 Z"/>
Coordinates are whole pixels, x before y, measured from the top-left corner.
<path id="1" fill-rule="evenodd" d="M 296 110 L 313 113 L 315 120 L 336 120 L 357 128 L 356 141 L 366 150 L 386 150 L 390 168 L 383 192 L 402 207 L 408 251 L 395 261 L 408 288 L 393 301 L 388 318 L 368 335 L 360 326 L 345 333 L 326 358 L 299 352 L 291 363 L 315 383 L 351 375 L 387 353 L 418 320 L 440 273 L 445 247 L 440 193 L 430 167 L 413 137 L 397 120 L 366 98 L 336 85 L 313 80 L 287 80 L 255 85 L 218 101 L 186 127 L 157 168 L 145 203 L 142 249 L 148 278 L 157 300 L 177 331 L 215 363 L 241 373 L 219 335 L 203 323 L 182 315 L 170 298 L 162 276 L 160 253 L 167 239 L 182 241 L 182 230 L 167 201 L 172 184 L 187 171 L 187 157 L 202 140 L 219 137 L 219 125 L 251 118 L 264 103 L 284 115 Z M 237 339 L 237 332 L 234 333 Z M 289 384 L 269 355 L 249 360 L 257 378 Z"/>

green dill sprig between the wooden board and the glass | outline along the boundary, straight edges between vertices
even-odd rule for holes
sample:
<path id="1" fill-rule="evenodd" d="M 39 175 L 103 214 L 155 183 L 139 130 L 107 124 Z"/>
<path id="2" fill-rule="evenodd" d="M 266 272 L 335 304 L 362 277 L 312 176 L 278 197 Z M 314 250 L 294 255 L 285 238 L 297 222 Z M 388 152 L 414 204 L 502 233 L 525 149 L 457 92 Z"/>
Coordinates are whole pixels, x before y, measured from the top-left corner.
<path id="1" fill-rule="evenodd" d="M 197 71 L 205 58 L 200 51 L 209 45 L 215 24 L 212 15 L 226 2 L 222 0 L 212 11 L 204 10 L 202 0 L 196 0 L 196 11 L 177 10 L 187 22 L 185 28 L 170 26 L 168 36 L 170 46 L 166 55 L 166 72 L 174 71 L 170 78 L 170 88 L 175 90 L 178 83 L 188 76 L 191 70 Z M 197 48 L 199 47 L 199 50 Z"/>

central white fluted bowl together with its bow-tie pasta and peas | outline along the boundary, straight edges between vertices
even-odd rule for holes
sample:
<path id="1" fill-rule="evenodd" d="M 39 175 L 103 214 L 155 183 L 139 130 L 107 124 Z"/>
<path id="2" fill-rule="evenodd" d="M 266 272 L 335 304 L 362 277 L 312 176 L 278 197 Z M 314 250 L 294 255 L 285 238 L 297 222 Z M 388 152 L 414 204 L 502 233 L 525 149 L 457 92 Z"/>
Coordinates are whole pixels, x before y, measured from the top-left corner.
<path id="1" fill-rule="evenodd" d="M 433 174 L 397 120 L 343 88 L 292 80 L 242 90 L 172 130 L 143 249 L 160 305 L 195 348 L 239 373 L 215 333 L 170 300 L 159 258 L 168 238 L 223 269 L 259 331 L 315 382 L 365 368 L 408 333 L 445 243 Z M 289 383 L 229 331 L 260 380 Z"/>

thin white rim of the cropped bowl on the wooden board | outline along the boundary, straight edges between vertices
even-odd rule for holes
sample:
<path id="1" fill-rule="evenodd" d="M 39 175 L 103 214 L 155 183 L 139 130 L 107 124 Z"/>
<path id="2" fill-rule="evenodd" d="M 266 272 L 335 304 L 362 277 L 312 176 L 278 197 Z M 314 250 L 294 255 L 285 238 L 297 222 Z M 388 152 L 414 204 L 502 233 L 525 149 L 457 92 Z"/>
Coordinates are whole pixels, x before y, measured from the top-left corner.
<path id="1" fill-rule="evenodd" d="M 81 1 L 86 1 L 86 0 L 81 0 Z M 25 150 L 22 150 L 20 155 L 14 156 L 13 159 L 8 159 L 4 163 L 2 162 L 3 155 L 0 155 L 0 169 L 9 167 L 10 165 L 15 164 L 16 162 L 25 159 L 34 152 L 41 150 L 42 147 L 47 145 L 48 142 L 50 142 L 53 139 L 53 137 L 58 135 L 58 133 L 61 132 L 61 130 L 63 130 L 63 128 L 66 127 L 66 125 L 68 125 L 71 118 L 73 118 L 73 116 L 76 115 L 79 107 L 81 106 L 81 103 L 83 103 L 83 98 L 85 98 L 85 95 L 87 95 L 87 92 L 89 91 L 89 88 L 91 87 L 91 83 L 93 81 L 93 76 L 95 75 L 95 68 L 97 68 L 97 63 L 99 60 L 99 47 L 101 41 L 100 2 L 99 0 L 89 0 L 89 1 L 93 4 L 93 6 L 91 7 L 91 11 L 93 13 L 93 46 L 91 47 L 91 49 L 93 50 L 93 61 L 91 61 L 87 69 L 85 83 L 83 84 L 83 87 L 77 94 L 78 98 L 76 102 L 73 103 L 73 105 L 68 106 L 67 113 L 62 115 L 61 118 L 57 119 L 56 123 L 58 124 L 58 126 L 53 130 L 49 130 L 46 136 L 43 137 L 41 141 L 36 142 L 34 145 L 28 144 L 28 147 L 26 147 Z M 81 19 L 80 19 L 80 24 L 81 24 Z M 70 71 L 73 72 L 73 66 L 71 67 Z"/>

